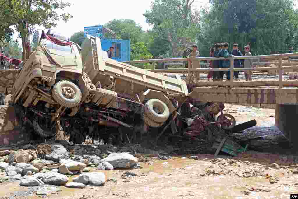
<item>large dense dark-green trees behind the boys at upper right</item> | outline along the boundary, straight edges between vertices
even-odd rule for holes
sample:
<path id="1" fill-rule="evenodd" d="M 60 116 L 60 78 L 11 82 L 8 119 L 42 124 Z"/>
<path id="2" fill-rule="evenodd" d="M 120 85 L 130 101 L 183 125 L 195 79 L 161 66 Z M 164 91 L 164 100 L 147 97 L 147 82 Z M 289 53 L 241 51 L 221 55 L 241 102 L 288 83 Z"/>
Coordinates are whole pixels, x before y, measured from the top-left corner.
<path id="1" fill-rule="evenodd" d="M 203 10 L 198 40 L 204 50 L 212 43 L 250 44 L 254 54 L 287 52 L 297 32 L 298 15 L 291 0 L 212 0 Z"/>

